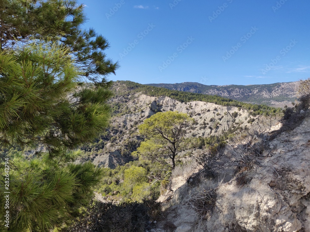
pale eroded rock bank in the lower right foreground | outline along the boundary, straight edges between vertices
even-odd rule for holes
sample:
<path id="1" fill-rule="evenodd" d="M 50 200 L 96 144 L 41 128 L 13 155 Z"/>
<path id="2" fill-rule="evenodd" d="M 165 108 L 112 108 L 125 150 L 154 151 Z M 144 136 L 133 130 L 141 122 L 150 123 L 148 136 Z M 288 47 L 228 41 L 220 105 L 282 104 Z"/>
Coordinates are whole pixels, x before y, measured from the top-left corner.
<path id="1" fill-rule="evenodd" d="M 193 210 L 186 205 L 188 197 L 179 195 L 180 190 L 172 197 L 183 199 L 173 206 L 179 217 L 168 220 L 177 230 L 191 232 L 310 231 L 309 124 L 308 117 L 294 130 L 272 140 L 260 166 L 243 172 L 250 180 L 246 184 L 237 184 L 236 179 L 221 184 L 214 212 L 208 220 L 188 216 Z"/>

